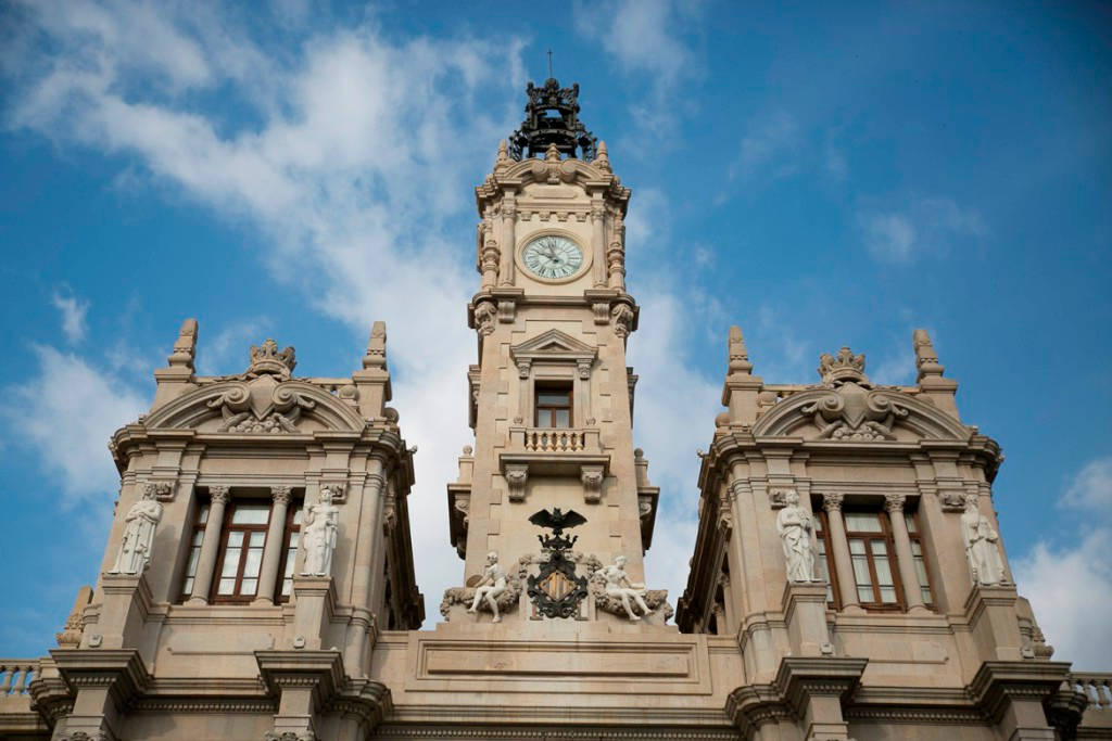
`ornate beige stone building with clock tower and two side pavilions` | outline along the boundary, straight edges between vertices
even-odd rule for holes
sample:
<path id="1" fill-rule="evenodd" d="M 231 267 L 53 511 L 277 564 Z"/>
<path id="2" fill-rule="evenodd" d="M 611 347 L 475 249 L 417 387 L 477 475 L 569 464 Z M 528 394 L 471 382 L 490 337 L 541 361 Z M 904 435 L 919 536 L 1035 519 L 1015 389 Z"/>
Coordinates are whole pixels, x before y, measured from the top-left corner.
<path id="1" fill-rule="evenodd" d="M 631 191 L 576 93 L 530 86 L 523 129 L 476 189 L 475 443 L 447 485 L 445 547 L 464 563 L 444 621 L 420 630 L 385 327 L 349 377 L 298 378 L 294 349 L 267 340 L 244 373 L 205 378 L 189 320 L 150 411 L 112 438 L 120 500 L 97 583 L 49 657 L 0 660 L 0 735 L 1112 731 L 1109 675 L 1051 661 L 1015 592 L 992 507 L 999 447 L 961 420 L 922 331 L 917 383 L 882 387 L 847 348 L 820 359 L 815 384 L 765 383 L 731 330 L 727 411 L 669 622 L 644 573 L 659 491 L 633 442 Z"/>

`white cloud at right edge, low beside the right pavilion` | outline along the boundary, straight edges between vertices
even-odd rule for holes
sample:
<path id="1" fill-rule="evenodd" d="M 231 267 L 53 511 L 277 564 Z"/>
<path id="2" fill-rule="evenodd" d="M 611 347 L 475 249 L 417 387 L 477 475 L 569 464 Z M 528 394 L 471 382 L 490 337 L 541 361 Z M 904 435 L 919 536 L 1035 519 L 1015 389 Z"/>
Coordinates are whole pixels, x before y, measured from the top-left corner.
<path id="1" fill-rule="evenodd" d="M 1112 457 L 1083 467 L 1060 507 L 1079 517 L 1073 542 L 1039 542 L 1012 563 L 1020 591 L 1031 601 L 1054 658 L 1074 669 L 1112 664 Z M 1082 522 L 1083 519 L 1083 522 Z"/>

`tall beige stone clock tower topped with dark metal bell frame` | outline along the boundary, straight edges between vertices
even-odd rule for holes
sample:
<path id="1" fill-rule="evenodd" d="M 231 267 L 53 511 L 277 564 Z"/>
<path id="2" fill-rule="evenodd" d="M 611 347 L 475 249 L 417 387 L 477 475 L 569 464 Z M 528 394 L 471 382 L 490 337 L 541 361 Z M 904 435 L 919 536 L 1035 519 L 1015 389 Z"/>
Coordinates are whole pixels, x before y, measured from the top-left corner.
<path id="1" fill-rule="evenodd" d="M 555 79 L 529 83 L 525 120 L 475 190 L 480 279 L 467 307 L 478 338 L 468 372 L 475 445 L 459 459 L 448 497 L 467 584 L 492 552 L 509 574 L 507 620 L 515 611 L 515 619 L 553 617 L 527 594 L 528 575 L 544 579 L 536 564 L 550 559 L 530 517 L 554 508 L 582 517 L 566 534 L 577 538 L 568 553 L 580 552 L 578 577 L 622 555 L 628 578 L 642 582 L 656 513 L 647 462 L 633 447 L 637 377 L 625 356 L 638 312 L 625 284 L 629 189 L 578 119 L 578 92 Z M 572 589 L 553 579 L 545 588 L 557 595 Z M 453 599 L 467 595 L 446 599 L 449 620 Z M 574 617 L 588 619 L 588 602 Z"/>

